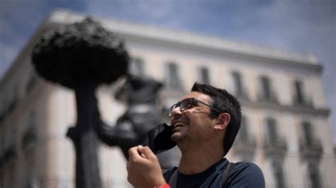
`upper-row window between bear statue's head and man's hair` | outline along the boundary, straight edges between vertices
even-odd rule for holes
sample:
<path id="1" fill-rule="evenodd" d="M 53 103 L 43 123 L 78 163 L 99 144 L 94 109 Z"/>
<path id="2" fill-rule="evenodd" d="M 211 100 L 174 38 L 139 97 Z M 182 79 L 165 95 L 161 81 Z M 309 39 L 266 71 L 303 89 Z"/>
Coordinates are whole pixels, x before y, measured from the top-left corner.
<path id="1" fill-rule="evenodd" d="M 181 90 L 181 79 L 179 78 L 179 69 L 177 64 L 170 62 L 165 69 L 165 83 L 167 88 L 172 90 Z"/>

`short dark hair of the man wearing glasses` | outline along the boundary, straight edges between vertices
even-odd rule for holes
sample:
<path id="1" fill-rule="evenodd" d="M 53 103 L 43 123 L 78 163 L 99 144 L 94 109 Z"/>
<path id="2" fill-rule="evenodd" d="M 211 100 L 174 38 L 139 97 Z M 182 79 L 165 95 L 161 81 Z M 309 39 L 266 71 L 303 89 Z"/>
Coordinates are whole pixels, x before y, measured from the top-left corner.
<path id="1" fill-rule="evenodd" d="M 235 141 L 235 136 L 237 136 L 240 128 L 240 121 L 242 116 L 240 103 L 238 102 L 237 98 L 228 93 L 228 91 L 215 88 L 207 84 L 195 82 L 194 86 L 191 88 L 191 91 L 196 91 L 210 96 L 211 107 L 219 110 L 220 112 L 230 114 L 231 119 L 223 138 L 224 155 L 226 155 L 226 153 L 228 153 L 230 148 L 233 146 L 233 141 Z M 211 110 L 211 113 L 209 114 L 211 118 L 218 117 L 218 115 L 219 113 L 215 110 Z"/>

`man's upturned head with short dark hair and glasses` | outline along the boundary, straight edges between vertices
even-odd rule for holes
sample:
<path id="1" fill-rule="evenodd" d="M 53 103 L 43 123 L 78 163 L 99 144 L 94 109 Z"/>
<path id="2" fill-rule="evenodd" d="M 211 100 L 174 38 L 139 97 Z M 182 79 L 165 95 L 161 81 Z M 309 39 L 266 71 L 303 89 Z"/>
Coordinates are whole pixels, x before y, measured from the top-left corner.
<path id="1" fill-rule="evenodd" d="M 223 138 L 225 155 L 233 146 L 240 128 L 241 110 L 237 99 L 226 90 L 205 84 L 194 83 L 191 93 L 172 107 L 172 115 L 172 139 L 176 142 L 189 137 L 204 139 L 208 136 L 207 130 L 212 129 L 209 124 L 217 124 L 218 119 L 226 121 Z M 190 127 L 190 124 L 193 126 Z M 191 135 L 186 135 L 186 132 Z"/>

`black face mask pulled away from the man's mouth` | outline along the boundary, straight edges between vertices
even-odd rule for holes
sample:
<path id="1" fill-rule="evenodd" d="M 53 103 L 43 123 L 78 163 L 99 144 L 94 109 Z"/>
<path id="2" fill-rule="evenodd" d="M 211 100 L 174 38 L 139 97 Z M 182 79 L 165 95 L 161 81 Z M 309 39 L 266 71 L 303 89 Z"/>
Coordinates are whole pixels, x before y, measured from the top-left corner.
<path id="1" fill-rule="evenodd" d="M 153 153 L 158 154 L 174 148 L 177 144 L 172 141 L 172 127 L 159 124 L 148 132 L 148 140 L 142 146 L 148 146 Z"/>

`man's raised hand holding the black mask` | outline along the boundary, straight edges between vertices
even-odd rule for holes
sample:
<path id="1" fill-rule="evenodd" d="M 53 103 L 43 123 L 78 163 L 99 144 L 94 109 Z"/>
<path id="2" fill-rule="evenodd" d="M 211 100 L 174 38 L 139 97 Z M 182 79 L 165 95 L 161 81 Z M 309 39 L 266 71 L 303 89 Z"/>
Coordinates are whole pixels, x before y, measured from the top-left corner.
<path id="1" fill-rule="evenodd" d="M 127 180 L 134 187 L 160 187 L 165 183 L 159 160 L 150 148 L 136 146 L 128 150 Z"/>

